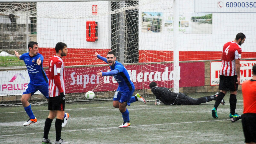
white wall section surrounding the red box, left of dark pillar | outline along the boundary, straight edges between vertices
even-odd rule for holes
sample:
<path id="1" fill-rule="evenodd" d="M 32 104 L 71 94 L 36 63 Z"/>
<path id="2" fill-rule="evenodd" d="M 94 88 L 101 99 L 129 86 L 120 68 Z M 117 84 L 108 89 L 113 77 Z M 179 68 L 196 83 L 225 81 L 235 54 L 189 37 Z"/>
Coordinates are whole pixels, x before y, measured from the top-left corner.
<path id="1" fill-rule="evenodd" d="M 98 5 L 98 15 L 92 15 L 92 5 Z M 109 11 L 109 2 L 37 3 L 37 42 L 40 47 L 64 42 L 69 48 L 110 49 Z M 86 41 L 86 21 L 90 20 L 98 22 L 97 42 Z"/>

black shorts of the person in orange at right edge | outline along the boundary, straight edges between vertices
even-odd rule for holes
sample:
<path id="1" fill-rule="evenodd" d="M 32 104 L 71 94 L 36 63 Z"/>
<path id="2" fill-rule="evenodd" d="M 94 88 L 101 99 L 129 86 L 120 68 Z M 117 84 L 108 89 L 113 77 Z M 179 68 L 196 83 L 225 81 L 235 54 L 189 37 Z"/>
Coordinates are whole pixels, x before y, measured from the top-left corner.
<path id="1" fill-rule="evenodd" d="M 242 115 L 243 133 L 246 143 L 256 142 L 256 114 L 246 113 Z"/>

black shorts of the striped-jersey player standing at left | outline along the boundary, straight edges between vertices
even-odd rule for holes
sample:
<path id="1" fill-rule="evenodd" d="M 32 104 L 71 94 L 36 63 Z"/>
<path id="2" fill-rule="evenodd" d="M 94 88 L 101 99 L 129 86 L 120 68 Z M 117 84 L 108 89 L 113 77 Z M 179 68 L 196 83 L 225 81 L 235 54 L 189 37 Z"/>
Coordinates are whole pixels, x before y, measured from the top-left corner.
<path id="1" fill-rule="evenodd" d="M 49 97 L 48 110 L 65 110 L 65 96 Z"/>

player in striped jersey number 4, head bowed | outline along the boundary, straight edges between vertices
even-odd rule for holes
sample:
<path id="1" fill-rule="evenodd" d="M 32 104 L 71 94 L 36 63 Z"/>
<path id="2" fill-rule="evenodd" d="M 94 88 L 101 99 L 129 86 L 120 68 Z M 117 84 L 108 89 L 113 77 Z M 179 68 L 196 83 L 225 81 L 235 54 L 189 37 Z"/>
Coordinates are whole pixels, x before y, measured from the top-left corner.
<path id="1" fill-rule="evenodd" d="M 220 93 L 215 101 L 214 108 L 211 110 L 213 118 L 218 118 L 217 108 L 227 91 L 230 91 L 229 117 L 233 118 L 240 116 L 235 112 L 237 104 L 237 87 L 240 83 L 240 59 L 242 54 L 242 49 L 239 46 L 244 43 L 245 38 L 245 35 L 240 32 L 236 35 L 234 41 L 227 42 L 223 46 L 219 84 Z"/>

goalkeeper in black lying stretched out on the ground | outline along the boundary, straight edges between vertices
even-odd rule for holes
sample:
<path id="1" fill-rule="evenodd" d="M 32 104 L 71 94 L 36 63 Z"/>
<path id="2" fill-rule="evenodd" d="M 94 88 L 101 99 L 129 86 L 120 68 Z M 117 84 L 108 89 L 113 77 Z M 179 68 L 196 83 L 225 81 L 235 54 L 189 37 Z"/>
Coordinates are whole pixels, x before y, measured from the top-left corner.
<path id="1" fill-rule="evenodd" d="M 218 93 L 211 96 L 204 96 L 200 98 L 192 98 L 184 93 L 174 93 L 165 87 L 158 87 L 155 82 L 150 83 L 152 93 L 156 96 L 155 105 L 159 105 L 160 101 L 165 105 L 199 105 L 201 103 L 216 100 Z M 160 100 L 160 101 L 159 101 Z M 224 105 L 225 101 L 222 99 L 221 104 Z"/>

